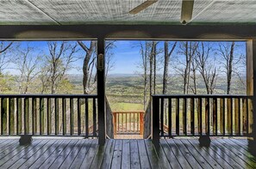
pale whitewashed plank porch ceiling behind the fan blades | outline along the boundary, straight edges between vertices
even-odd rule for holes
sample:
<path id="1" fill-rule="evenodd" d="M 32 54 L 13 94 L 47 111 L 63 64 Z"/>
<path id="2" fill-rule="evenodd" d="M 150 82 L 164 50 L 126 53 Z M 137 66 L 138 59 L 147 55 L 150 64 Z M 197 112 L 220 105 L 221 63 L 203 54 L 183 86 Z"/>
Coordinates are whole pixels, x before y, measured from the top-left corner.
<path id="1" fill-rule="evenodd" d="M 180 24 L 181 0 L 0 0 L 1 25 Z M 255 0 L 195 0 L 192 24 L 256 23 Z"/>

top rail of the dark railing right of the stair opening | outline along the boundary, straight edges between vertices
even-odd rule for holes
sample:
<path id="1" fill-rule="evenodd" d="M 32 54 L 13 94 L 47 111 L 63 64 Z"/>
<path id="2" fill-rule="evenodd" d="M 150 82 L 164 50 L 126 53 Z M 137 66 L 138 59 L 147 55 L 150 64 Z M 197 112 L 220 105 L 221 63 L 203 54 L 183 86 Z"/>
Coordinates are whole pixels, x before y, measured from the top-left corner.
<path id="1" fill-rule="evenodd" d="M 246 94 L 153 94 L 154 98 L 253 98 Z"/>

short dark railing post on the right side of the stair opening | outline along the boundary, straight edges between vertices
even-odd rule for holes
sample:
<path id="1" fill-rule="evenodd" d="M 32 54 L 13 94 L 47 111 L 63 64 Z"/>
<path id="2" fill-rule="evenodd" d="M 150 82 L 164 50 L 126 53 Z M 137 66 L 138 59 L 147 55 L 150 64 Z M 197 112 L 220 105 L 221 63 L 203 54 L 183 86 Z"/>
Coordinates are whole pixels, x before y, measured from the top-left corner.
<path id="1" fill-rule="evenodd" d="M 153 132 L 152 132 L 152 142 L 156 149 L 159 149 L 159 98 L 152 97 L 153 100 Z"/>

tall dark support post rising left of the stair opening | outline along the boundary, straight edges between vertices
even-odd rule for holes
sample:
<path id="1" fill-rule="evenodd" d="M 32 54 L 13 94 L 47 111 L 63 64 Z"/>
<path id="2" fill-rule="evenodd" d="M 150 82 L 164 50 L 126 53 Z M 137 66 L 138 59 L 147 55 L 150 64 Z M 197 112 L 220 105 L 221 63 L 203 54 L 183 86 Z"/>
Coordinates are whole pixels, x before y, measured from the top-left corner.
<path id="1" fill-rule="evenodd" d="M 98 143 L 105 144 L 105 58 L 104 39 L 97 39 L 97 112 L 98 112 Z"/>

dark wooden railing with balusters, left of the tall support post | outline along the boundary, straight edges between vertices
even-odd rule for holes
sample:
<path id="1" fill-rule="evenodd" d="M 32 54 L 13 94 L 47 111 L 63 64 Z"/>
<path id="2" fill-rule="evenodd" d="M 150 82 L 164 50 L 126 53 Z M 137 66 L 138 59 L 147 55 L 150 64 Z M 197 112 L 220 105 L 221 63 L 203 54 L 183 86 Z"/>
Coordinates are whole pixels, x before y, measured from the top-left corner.
<path id="1" fill-rule="evenodd" d="M 1 136 L 97 136 L 97 95 L 0 95 Z"/>

